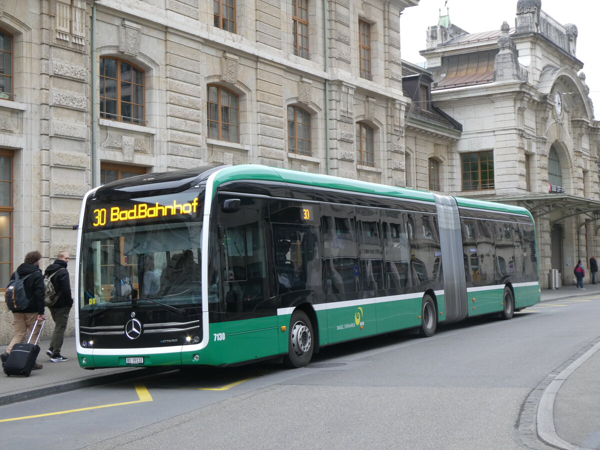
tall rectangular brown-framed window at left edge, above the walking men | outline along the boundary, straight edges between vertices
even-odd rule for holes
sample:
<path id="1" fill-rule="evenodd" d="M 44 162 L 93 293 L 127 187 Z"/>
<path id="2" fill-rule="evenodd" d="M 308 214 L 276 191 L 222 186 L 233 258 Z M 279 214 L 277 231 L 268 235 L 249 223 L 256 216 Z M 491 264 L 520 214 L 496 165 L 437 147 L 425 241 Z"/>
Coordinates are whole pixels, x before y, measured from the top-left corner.
<path id="1" fill-rule="evenodd" d="M 13 273 L 13 152 L 0 149 L 0 279 Z M 4 290 L 4 284 L 0 286 Z"/>

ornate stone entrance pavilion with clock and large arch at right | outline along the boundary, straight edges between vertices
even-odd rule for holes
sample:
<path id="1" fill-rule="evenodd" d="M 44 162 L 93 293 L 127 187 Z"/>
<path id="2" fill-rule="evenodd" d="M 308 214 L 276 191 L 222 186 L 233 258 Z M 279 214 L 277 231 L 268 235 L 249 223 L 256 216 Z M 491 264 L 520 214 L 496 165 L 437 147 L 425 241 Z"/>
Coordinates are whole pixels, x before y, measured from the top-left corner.
<path id="1" fill-rule="evenodd" d="M 577 260 L 587 266 L 600 250 L 600 124 L 577 59 L 577 27 L 540 3 L 519 0 L 514 27 L 477 34 L 441 16 L 421 54 L 434 104 L 463 127 L 440 147 L 440 189 L 528 208 L 548 287 L 551 269 L 574 284 Z"/>

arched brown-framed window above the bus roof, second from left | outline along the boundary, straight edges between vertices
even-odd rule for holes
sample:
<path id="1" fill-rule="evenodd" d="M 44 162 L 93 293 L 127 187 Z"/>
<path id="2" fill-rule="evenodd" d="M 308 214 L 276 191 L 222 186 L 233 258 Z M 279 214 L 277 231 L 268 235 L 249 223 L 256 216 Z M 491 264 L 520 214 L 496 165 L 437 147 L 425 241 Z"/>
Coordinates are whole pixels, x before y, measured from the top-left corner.
<path id="1" fill-rule="evenodd" d="M 239 100 L 229 89 L 208 85 L 208 137 L 239 142 Z"/>

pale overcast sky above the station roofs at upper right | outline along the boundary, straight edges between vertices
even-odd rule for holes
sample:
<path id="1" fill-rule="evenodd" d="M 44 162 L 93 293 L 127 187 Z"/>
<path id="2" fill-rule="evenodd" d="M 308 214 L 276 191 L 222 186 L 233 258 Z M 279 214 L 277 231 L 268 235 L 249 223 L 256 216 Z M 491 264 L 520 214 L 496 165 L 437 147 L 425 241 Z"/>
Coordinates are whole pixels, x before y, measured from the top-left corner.
<path id="1" fill-rule="evenodd" d="M 600 58 L 598 36 L 600 1 L 598 0 L 541 0 L 542 10 L 554 20 L 577 26 L 576 57 L 583 62 L 586 83 L 594 103 L 596 120 L 600 119 Z M 440 8 L 445 0 L 419 0 L 417 6 L 406 8 L 400 17 L 402 58 L 413 63 L 425 59 L 419 50 L 427 47 L 427 27 L 437 25 Z M 502 22 L 515 26 L 517 0 L 448 0 L 450 20 L 469 33 L 500 29 Z"/>

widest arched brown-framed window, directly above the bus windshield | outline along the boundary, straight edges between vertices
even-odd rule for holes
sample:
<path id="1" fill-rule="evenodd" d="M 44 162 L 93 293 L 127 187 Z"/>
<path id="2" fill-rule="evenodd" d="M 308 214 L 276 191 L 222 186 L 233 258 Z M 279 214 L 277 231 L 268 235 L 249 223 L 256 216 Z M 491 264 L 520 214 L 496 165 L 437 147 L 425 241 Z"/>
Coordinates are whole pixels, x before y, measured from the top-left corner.
<path id="1" fill-rule="evenodd" d="M 119 58 L 100 58 L 100 117 L 145 124 L 143 70 Z"/>

